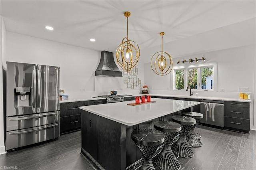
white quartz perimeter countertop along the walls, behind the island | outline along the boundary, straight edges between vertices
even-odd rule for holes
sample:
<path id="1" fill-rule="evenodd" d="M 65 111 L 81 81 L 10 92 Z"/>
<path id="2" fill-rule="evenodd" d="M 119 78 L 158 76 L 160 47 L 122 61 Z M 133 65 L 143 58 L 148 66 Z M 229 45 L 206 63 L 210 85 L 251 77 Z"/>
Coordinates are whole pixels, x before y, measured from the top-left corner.
<path id="1" fill-rule="evenodd" d="M 145 94 L 137 94 L 132 96 L 143 96 Z M 178 97 L 178 98 L 187 98 L 187 99 L 205 99 L 205 100 L 221 100 L 221 101 L 238 101 L 238 102 L 248 102 L 251 103 L 252 100 L 249 99 L 239 99 L 239 98 L 228 98 L 228 97 L 204 97 L 204 96 L 185 96 L 185 95 L 163 95 L 163 94 L 148 94 L 151 96 L 162 96 L 162 97 Z M 124 97 L 131 97 L 131 96 L 124 96 Z M 89 101 L 89 100 L 99 100 L 99 99 L 106 99 L 106 98 L 92 98 L 92 97 L 85 97 L 84 99 L 78 99 L 78 100 L 64 100 L 60 101 L 60 103 L 66 103 L 66 102 L 75 102 L 75 101 Z"/>

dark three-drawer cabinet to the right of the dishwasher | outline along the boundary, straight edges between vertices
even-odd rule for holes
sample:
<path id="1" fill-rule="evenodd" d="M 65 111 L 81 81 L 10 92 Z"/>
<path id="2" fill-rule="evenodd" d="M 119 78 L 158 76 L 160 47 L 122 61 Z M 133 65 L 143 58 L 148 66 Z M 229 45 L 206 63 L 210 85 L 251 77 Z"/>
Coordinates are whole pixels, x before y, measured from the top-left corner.
<path id="1" fill-rule="evenodd" d="M 225 101 L 224 128 L 249 133 L 250 103 Z"/>

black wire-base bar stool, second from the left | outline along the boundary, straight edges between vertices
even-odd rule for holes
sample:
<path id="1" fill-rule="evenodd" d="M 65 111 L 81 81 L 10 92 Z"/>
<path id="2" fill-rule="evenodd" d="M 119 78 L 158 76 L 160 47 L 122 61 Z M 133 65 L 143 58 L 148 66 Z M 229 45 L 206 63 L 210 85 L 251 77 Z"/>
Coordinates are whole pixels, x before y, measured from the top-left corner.
<path id="1" fill-rule="evenodd" d="M 154 127 L 164 133 L 164 148 L 160 154 L 158 154 L 158 149 L 161 147 L 156 150 L 158 154 L 156 162 L 163 170 L 179 170 L 180 162 L 177 160 L 179 153 L 175 150 L 173 152 L 171 144 L 177 132 L 181 130 L 181 125 L 172 121 L 157 121 Z"/>

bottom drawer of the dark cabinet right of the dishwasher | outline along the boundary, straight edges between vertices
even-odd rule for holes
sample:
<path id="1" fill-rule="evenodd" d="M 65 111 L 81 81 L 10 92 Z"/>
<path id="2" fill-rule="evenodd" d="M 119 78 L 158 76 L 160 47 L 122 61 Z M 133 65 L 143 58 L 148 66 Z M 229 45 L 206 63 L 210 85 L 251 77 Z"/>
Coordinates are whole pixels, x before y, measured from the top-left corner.
<path id="1" fill-rule="evenodd" d="M 224 127 L 236 128 L 241 130 L 250 130 L 249 119 L 239 119 L 234 117 L 224 117 Z"/>

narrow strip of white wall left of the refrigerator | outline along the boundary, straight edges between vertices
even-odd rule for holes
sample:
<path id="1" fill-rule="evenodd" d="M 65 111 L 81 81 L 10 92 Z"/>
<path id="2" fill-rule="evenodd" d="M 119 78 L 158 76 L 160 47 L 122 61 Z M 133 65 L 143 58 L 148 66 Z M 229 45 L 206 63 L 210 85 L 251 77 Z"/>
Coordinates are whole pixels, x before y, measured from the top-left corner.
<path id="1" fill-rule="evenodd" d="M 2 16 L 0 16 L 0 154 L 5 153 L 4 141 L 4 109 L 3 109 L 3 68 L 2 58 L 5 56 L 6 30 Z"/>

